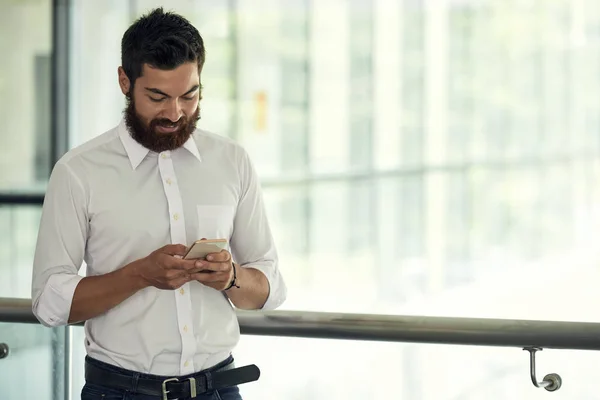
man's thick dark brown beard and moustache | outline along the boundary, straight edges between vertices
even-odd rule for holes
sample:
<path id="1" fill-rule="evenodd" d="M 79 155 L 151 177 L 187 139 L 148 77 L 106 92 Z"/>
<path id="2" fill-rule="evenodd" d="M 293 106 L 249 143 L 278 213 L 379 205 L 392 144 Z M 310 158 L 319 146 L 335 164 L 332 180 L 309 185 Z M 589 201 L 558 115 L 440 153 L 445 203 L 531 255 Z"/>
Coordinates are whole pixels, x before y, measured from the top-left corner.
<path id="1" fill-rule="evenodd" d="M 146 124 L 135 111 L 133 97 L 127 96 L 127 105 L 123 114 L 131 137 L 148 150 L 160 153 L 183 146 L 192 136 L 196 130 L 196 123 L 200 119 L 200 105 L 191 117 L 184 115 L 175 123 L 167 118 L 155 118 Z M 160 133 L 156 129 L 159 126 L 169 128 L 177 126 L 177 130 L 171 133 Z"/>

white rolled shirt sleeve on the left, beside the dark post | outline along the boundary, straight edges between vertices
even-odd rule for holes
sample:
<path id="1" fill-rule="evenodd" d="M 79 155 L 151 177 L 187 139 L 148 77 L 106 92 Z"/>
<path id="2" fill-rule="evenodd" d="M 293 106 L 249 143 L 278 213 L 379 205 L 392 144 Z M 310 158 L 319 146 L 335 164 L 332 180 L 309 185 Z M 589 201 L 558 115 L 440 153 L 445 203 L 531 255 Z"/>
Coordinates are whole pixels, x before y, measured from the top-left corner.
<path id="1" fill-rule="evenodd" d="M 88 233 L 87 196 L 63 162 L 52 171 L 38 232 L 31 286 L 32 309 L 45 326 L 66 325 Z"/>

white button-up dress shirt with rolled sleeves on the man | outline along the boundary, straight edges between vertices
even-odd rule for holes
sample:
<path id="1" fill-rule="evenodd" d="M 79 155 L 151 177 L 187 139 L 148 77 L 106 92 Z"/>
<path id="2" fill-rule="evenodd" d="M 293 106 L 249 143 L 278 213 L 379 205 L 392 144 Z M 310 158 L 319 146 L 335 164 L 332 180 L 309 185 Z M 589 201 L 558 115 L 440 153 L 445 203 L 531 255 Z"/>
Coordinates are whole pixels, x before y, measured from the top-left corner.
<path id="1" fill-rule="evenodd" d="M 227 138 L 196 130 L 182 148 L 155 153 L 121 124 L 69 151 L 48 184 L 33 266 L 33 312 L 68 322 L 75 288 L 169 243 L 226 238 L 233 259 L 265 274 L 263 309 L 286 287 L 256 172 Z M 197 281 L 145 288 L 85 323 L 90 357 L 138 372 L 177 376 L 213 366 L 239 341 L 229 299 Z"/>

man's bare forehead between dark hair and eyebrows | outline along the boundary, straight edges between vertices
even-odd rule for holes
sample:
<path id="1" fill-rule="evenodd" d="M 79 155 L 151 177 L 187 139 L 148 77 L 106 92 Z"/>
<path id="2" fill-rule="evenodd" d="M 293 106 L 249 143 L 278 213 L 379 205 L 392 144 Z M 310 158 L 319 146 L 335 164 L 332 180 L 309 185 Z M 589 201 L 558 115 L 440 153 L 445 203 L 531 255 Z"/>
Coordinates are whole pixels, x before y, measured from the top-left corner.
<path id="1" fill-rule="evenodd" d="M 182 90 L 182 93 L 184 93 L 191 86 L 198 85 L 200 82 L 198 64 L 189 62 L 171 70 L 155 68 L 149 64 L 144 64 L 142 66 L 142 75 L 138 78 L 138 81 L 148 88 L 173 91 Z"/>

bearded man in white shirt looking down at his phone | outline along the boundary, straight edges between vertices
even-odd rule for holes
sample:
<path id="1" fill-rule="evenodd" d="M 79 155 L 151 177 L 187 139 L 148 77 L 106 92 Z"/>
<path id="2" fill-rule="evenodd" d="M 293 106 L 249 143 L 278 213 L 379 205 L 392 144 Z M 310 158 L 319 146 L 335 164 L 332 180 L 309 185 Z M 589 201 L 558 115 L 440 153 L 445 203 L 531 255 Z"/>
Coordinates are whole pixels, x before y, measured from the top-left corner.
<path id="1" fill-rule="evenodd" d="M 121 45 L 124 120 L 54 167 L 33 312 L 47 326 L 86 321 L 82 399 L 241 399 L 258 371 L 233 367 L 231 304 L 286 297 L 256 173 L 239 145 L 196 129 L 205 51 L 186 19 L 154 10 Z M 183 259 L 201 238 L 230 251 Z"/>

